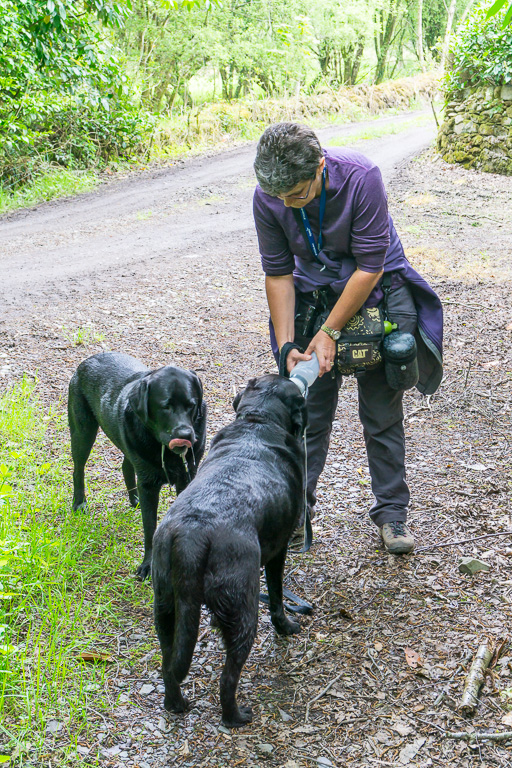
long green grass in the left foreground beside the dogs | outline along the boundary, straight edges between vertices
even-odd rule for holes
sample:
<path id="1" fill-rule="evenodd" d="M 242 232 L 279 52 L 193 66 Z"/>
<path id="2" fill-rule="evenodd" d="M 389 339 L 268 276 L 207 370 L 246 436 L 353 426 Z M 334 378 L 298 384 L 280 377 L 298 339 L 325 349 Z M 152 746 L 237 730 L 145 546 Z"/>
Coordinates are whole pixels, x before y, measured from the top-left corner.
<path id="1" fill-rule="evenodd" d="M 30 743 L 28 764 L 40 764 L 57 720 L 68 746 L 53 764 L 80 765 L 77 740 L 96 732 L 118 692 L 110 665 L 79 654 L 115 657 L 134 611 L 150 610 L 150 588 L 133 578 L 142 526 L 121 474 L 113 491 L 93 458 L 89 509 L 72 512 L 66 420 L 44 414 L 36 391 L 23 380 L 0 397 L 0 756 L 23 765 Z"/>

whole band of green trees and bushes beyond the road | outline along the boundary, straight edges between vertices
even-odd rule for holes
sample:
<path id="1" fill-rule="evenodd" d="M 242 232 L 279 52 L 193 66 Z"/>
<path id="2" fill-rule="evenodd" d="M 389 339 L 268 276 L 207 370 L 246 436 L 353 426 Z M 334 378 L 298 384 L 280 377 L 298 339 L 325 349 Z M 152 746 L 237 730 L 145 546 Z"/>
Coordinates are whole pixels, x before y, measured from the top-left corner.
<path id="1" fill-rule="evenodd" d="M 219 99 L 229 132 L 232 101 L 425 71 L 468 2 L 0 0 L 1 192 L 188 141 Z"/>

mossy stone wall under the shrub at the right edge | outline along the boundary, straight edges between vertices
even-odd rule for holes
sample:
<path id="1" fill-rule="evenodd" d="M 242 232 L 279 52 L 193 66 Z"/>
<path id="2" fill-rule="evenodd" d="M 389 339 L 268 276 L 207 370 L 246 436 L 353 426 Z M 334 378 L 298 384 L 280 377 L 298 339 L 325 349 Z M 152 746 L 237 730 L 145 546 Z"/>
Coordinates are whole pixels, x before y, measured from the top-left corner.
<path id="1" fill-rule="evenodd" d="M 512 176 L 512 83 L 454 94 L 437 144 L 449 163 Z"/>

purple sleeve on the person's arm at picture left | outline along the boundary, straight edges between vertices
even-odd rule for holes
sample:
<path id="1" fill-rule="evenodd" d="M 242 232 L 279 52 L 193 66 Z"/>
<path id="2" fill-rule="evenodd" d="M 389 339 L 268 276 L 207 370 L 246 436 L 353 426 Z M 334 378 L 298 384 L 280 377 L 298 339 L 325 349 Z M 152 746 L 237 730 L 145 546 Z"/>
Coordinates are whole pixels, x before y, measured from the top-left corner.
<path id="1" fill-rule="evenodd" d="M 295 259 L 290 250 L 288 238 L 266 203 L 265 197 L 266 195 L 257 187 L 253 199 L 253 214 L 261 266 L 265 274 L 270 277 L 290 275 L 295 268 Z"/>

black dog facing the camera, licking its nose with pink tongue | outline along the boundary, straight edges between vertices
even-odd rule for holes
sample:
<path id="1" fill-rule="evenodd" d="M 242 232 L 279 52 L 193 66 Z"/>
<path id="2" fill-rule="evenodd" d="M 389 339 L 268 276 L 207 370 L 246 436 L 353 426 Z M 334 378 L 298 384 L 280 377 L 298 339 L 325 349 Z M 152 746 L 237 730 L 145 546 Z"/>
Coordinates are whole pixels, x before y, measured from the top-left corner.
<path id="1" fill-rule="evenodd" d="M 130 503 L 140 502 L 144 560 L 151 569 L 158 497 L 165 483 L 180 493 L 195 476 L 206 439 L 206 403 L 192 371 L 166 365 L 150 371 L 130 355 L 106 352 L 80 363 L 69 384 L 73 509 L 85 504 L 84 468 L 98 427 L 124 454 Z M 137 476 L 137 481 L 135 480 Z"/>

